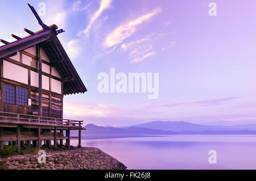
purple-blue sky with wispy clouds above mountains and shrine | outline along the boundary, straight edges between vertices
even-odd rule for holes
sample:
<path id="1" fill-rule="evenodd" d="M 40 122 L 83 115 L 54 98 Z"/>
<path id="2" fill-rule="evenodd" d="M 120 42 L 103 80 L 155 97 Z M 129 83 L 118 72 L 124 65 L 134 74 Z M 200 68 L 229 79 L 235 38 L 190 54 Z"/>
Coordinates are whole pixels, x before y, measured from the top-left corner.
<path id="1" fill-rule="evenodd" d="M 88 89 L 65 96 L 65 117 L 113 126 L 256 123 L 256 1 L 29 1 L 36 10 L 39 2 L 44 23 L 66 31 L 58 37 Z M 217 16 L 208 15 L 210 2 Z M 27 3 L 0 2 L 2 39 L 40 29 Z M 97 75 L 110 68 L 159 73 L 158 99 L 99 93 Z"/>

